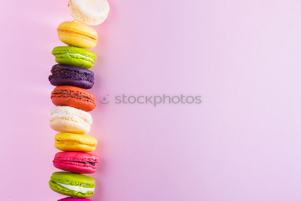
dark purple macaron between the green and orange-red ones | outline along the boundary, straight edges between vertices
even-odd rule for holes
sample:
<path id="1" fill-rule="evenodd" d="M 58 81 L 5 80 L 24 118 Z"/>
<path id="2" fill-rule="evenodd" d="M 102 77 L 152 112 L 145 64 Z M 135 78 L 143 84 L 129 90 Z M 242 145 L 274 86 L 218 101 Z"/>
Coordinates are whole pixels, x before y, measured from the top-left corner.
<path id="1" fill-rule="evenodd" d="M 91 89 L 94 84 L 94 73 L 78 66 L 56 64 L 51 68 L 48 80 L 53 86 L 76 86 Z"/>

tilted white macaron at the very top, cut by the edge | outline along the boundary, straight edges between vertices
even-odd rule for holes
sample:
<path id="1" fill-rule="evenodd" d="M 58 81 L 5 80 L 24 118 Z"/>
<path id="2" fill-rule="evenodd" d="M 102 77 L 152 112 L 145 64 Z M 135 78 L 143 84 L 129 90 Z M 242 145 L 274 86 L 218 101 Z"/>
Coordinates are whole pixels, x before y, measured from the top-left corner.
<path id="1" fill-rule="evenodd" d="M 74 19 L 89 25 L 103 23 L 110 11 L 107 0 L 70 0 L 68 8 Z"/>

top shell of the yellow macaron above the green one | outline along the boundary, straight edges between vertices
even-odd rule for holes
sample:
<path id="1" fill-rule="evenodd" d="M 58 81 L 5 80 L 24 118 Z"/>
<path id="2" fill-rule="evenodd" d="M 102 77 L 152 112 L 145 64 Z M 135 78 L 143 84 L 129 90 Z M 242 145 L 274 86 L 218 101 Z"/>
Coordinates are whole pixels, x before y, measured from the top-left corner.
<path id="1" fill-rule="evenodd" d="M 69 33 L 71 35 L 97 40 L 97 32 L 92 27 L 81 24 L 77 20 L 62 22 L 58 25 L 57 32 Z"/>

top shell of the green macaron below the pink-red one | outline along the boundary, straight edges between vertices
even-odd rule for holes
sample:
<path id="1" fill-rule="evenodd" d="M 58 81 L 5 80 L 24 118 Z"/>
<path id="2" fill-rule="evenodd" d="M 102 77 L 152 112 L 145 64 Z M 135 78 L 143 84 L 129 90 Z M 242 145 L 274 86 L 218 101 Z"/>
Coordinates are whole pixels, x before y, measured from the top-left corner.
<path id="1" fill-rule="evenodd" d="M 60 184 L 67 184 L 72 186 L 80 186 L 85 188 L 94 188 L 95 180 L 92 177 L 72 173 L 72 172 L 54 172 L 50 177 L 51 181 Z"/>

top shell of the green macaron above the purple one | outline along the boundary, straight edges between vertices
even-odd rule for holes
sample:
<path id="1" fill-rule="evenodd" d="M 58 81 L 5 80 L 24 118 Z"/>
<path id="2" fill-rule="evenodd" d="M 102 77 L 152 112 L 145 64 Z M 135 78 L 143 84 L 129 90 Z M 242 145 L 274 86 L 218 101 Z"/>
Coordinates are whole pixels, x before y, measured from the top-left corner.
<path id="1" fill-rule="evenodd" d="M 58 46 L 52 50 L 51 54 L 56 57 L 59 57 L 60 55 L 73 55 L 75 58 L 77 56 L 83 60 L 93 61 L 93 63 L 96 60 L 94 52 L 79 47 Z"/>

